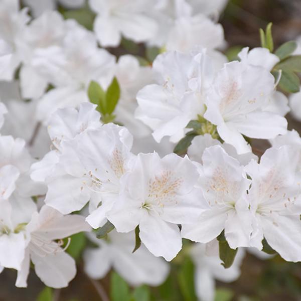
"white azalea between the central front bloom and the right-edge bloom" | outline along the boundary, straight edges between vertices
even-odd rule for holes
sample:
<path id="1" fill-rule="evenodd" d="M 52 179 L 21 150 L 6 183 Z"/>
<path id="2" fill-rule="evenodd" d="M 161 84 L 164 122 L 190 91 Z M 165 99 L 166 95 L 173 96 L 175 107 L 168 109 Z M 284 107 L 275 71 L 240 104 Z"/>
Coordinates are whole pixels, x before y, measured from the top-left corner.
<path id="1" fill-rule="evenodd" d="M 182 237 L 207 243 L 225 230 L 231 248 L 249 246 L 252 228 L 246 191 L 250 180 L 243 166 L 220 145 L 206 148 L 202 161 L 199 185 L 211 208 L 196 223 L 183 224 Z"/>

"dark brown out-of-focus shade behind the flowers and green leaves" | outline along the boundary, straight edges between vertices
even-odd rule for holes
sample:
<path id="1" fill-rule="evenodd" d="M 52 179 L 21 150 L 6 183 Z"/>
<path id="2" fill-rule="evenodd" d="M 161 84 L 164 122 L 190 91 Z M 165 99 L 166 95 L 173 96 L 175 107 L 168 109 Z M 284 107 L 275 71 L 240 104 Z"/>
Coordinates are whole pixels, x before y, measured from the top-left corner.
<path id="1" fill-rule="evenodd" d="M 107 0 L 109 1 L 109 0 Z M 210 0 L 208 0 L 210 1 Z M 220 23 L 225 30 L 225 39 L 228 47 L 260 46 L 258 30 L 273 23 L 273 39 L 275 48 L 283 42 L 293 40 L 301 35 L 301 0 L 233 0 L 220 17 Z M 140 46 L 138 51 L 141 53 Z M 109 49 L 115 55 L 128 53 L 124 45 L 118 49 Z M 142 50 L 143 52 L 143 50 Z M 289 128 L 300 132 L 301 124 L 288 116 Z M 256 148 L 264 151 L 268 147 L 265 141 L 254 141 Z M 80 262 L 80 261 L 79 261 Z M 80 265 L 81 263 L 79 263 Z M 6 269 L 0 274 L 0 301 L 34 301 L 44 284 L 32 271 L 29 276 L 28 288 L 16 288 L 16 271 Z M 179 288 L 172 281 L 173 273 L 164 284 L 166 293 L 172 293 L 169 300 L 184 300 Z M 99 281 L 109 294 L 109 277 Z M 68 288 L 55 290 L 54 301 L 96 301 L 101 300 L 93 283 L 79 268 L 76 278 Z M 230 288 L 234 297 L 239 301 L 274 301 L 274 300 L 301 300 L 301 263 L 288 263 L 278 255 L 269 260 L 259 260 L 247 254 L 241 267 L 240 278 L 230 284 L 217 282 L 218 287 Z M 168 287 L 168 288 L 166 288 Z M 154 300 L 165 300 L 155 297 Z M 218 301 L 223 301 L 219 299 Z"/>

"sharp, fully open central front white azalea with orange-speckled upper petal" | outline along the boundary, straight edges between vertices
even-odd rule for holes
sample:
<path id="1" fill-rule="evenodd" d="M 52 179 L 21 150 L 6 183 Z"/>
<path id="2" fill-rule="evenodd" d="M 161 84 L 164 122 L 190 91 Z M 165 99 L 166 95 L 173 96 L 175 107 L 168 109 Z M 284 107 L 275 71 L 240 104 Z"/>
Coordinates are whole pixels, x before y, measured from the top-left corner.
<path id="1" fill-rule="evenodd" d="M 146 248 L 170 261 L 182 248 L 177 224 L 196 221 L 208 206 L 194 187 L 197 179 L 197 168 L 187 157 L 138 154 L 106 216 L 118 232 L 130 232 L 139 225 Z"/>

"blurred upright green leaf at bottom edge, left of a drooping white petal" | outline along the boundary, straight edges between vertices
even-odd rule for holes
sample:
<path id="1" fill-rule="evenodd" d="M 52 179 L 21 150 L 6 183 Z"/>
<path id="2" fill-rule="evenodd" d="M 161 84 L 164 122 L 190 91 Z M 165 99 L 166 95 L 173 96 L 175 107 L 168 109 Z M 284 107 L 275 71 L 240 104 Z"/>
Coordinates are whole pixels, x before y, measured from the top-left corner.
<path id="1" fill-rule="evenodd" d="M 190 258 L 186 257 L 178 273 L 178 282 L 185 301 L 196 301 L 194 287 L 194 265 Z"/>

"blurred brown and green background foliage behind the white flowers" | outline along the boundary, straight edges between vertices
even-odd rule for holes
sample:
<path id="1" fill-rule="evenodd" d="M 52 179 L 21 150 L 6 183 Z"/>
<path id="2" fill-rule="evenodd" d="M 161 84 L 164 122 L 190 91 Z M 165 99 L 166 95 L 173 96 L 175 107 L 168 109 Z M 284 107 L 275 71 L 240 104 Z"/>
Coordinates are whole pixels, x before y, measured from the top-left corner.
<path id="1" fill-rule="evenodd" d="M 108 0 L 109 1 L 109 0 Z M 210 0 L 208 0 L 210 1 Z M 63 16 L 76 19 L 88 29 L 92 29 L 94 14 L 87 8 L 65 11 Z M 259 28 L 273 23 L 275 48 L 301 35 L 301 0 L 230 0 L 220 23 L 225 30 L 228 43 L 225 54 L 235 59 L 244 46 L 260 46 Z M 130 53 L 139 57 L 141 64 L 151 63 L 159 49 L 145 49 L 123 40 L 118 48 L 108 49 L 117 57 Z M 289 128 L 301 130 L 301 124 L 288 116 Z M 261 142 L 262 143 L 262 142 Z M 267 143 L 256 145 L 262 150 Z M 194 288 L 194 266 L 184 254 L 172 261 L 171 273 L 160 287 L 129 287 L 114 271 L 104 279 L 89 279 L 82 269 L 81 252 L 86 238 L 79 233 L 72 237 L 68 252 L 78 262 L 78 274 L 68 288 L 51 289 L 45 287 L 35 273 L 30 273 L 28 288 L 16 288 L 16 271 L 6 269 L 0 274 L 0 301 L 196 301 Z M 179 259 L 180 258 L 180 259 Z M 106 296 L 104 296 L 106 295 Z M 290 263 L 278 255 L 268 260 L 260 260 L 247 253 L 241 276 L 232 283 L 217 281 L 216 301 L 294 301 L 301 300 L 301 263 Z"/>

